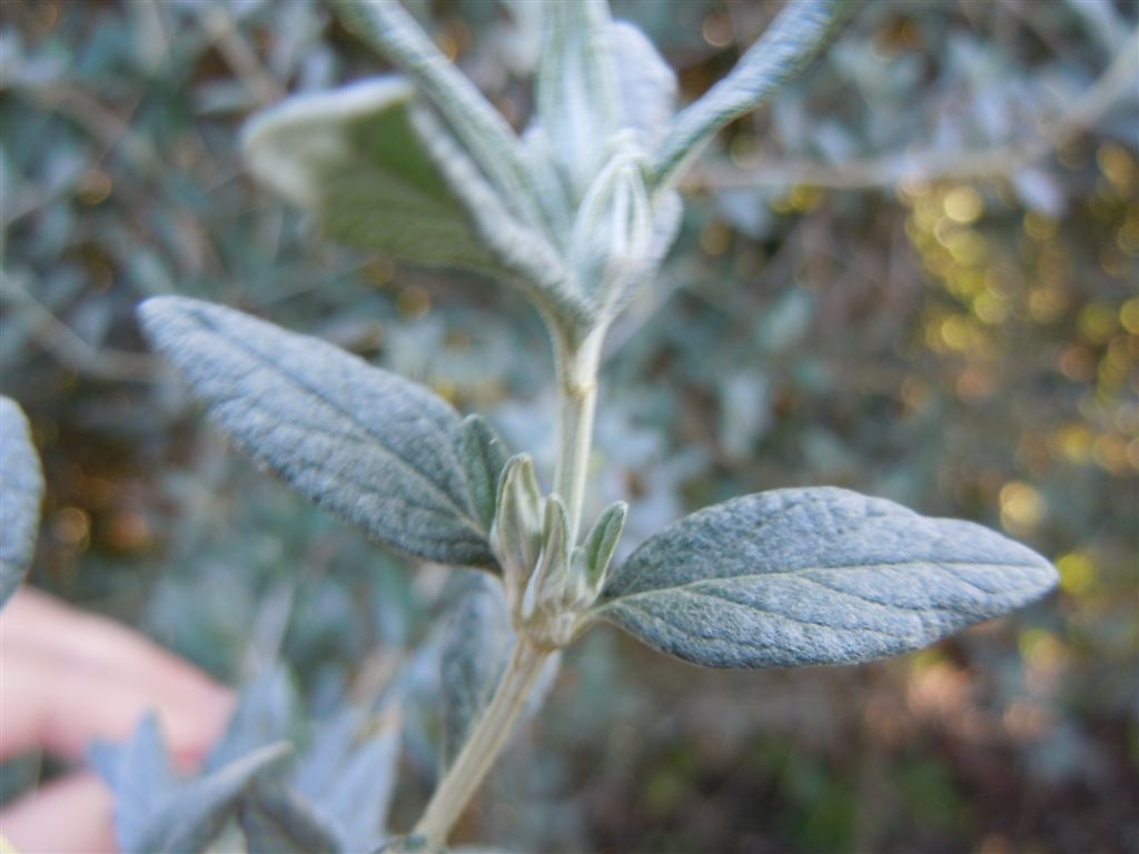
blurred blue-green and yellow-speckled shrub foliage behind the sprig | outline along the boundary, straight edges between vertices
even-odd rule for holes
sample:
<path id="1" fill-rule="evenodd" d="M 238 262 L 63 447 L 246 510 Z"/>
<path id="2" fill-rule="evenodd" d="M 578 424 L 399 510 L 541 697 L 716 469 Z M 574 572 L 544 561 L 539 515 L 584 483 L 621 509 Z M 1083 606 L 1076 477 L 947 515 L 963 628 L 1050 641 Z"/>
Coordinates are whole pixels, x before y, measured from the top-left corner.
<path id="1" fill-rule="evenodd" d="M 778 7 L 614 5 L 686 99 Z M 413 8 L 521 126 L 539 5 Z M 1136 851 L 1137 17 L 1132 0 L 871 5 L 687 181 L 600 401 L 593 507 L 633 503 L 626 550 L 713 501 L 837 484 L 1001 528 L 1055 559 L 1058 594 L 858 668 L 699 671 L 596 630 L 460 836 Z M 540 323 L 494 282 L 328 246 L 252 186 L 252 110 L 386 68 L 323 3 L 5 0 L 0 22 L 2 391 L 49 483 L 32 582 L 231 684 L 281 659 L 310 717 L 374 696 L 436 637 L 453 574 L 378 553 L 231 452 L 133 307 L 177 291 L 330 338 L 548 461 Z M 434 774 L 429 683 L 396 828 Z M 5 796 L 40 771 L 5 769 Z"/>

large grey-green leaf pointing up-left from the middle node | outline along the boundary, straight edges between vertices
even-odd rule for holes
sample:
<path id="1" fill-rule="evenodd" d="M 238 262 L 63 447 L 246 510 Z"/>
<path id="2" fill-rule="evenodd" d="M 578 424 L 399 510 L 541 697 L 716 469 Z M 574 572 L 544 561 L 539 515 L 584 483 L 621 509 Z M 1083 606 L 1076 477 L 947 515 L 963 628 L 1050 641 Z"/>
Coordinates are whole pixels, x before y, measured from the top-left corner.
<path id="1" fill-rule="evenodd" d="M 237 444 L 301 494 L 410 555 L 494 566 L 468 509 L 461 421 L 442 399 L 220 305 L 157 297 L 140 315 Z"/>

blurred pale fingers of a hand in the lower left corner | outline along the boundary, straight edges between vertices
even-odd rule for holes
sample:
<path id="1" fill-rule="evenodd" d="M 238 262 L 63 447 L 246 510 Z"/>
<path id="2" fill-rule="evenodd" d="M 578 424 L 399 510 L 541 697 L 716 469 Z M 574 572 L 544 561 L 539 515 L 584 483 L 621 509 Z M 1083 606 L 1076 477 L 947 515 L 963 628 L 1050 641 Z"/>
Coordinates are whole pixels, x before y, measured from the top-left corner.
<path id="1" fill-rule="evenodd" d="M 0 611 L 0 762 L 42 752 L 75 770 L 0 811 L 0 836 L 23 854 L 114 852 L 112 795 L 84 765 L 88 745 L 128 738 L 154 711 L 189 771 L 232 706 L 227 689 L 142 635 L 19 590 Z"/>

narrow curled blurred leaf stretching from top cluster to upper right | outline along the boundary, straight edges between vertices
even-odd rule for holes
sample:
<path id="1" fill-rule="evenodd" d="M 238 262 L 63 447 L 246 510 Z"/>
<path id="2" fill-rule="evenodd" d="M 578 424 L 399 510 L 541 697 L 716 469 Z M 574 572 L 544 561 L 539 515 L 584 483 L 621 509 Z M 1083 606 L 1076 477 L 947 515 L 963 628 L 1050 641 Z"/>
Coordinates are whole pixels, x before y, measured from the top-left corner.
<path id="1" fill-rule="evenodd" d="M 759 107 L 803 71 L 860 3 L 861 0 L 787 3 L 731 73 L 677 115 L 655 161 L 655 183 L 673 183 L 721 128 Z"/>

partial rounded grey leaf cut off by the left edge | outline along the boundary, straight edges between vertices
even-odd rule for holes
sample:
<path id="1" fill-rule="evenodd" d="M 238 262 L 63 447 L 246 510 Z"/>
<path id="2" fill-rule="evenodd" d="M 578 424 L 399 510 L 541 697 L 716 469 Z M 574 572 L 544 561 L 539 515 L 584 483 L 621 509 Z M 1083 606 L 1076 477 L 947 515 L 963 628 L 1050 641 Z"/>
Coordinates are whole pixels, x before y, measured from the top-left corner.
<path id="1" fill-rule="evenodd" d="M 27 418 L 0 397 L 0 607 L 27 573 L 40 527 L 43 473 Z"/>

